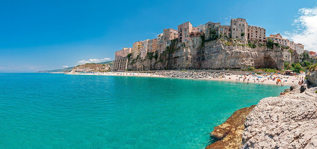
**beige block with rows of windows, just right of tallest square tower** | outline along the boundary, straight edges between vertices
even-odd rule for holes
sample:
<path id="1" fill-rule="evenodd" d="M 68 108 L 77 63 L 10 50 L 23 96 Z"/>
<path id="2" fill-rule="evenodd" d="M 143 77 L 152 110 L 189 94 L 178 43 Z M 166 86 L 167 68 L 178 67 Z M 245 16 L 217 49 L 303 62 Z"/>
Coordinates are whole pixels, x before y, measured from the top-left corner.
<path id="1" fill-rule="evenodd" d="M 260 26 L 248 26 L 248 40 L 266 44 L 266 30 Z"/>

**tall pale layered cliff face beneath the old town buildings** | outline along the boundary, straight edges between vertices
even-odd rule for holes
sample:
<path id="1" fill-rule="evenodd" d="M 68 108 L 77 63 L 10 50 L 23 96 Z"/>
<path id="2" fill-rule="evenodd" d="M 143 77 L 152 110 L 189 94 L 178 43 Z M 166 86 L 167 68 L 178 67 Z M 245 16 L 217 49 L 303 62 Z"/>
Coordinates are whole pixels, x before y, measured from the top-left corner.
<path id="1" fill-rule="evenodd" d="M 201 37 L 176 43 L 172 42 L 170 49 L 144 60 L 130 58 L 128 69 L 219 69 L 241 68 L 253 66 L 256 68 L 284 68 L 284 61 L 294 61 L 288 49 L 277 47 L 274 50 L 265 46 L 252 49 L 235 39 L 217 39 L 202 43 Z M 154 54 L 153 54 L 154 55 Z M 293 60 L 292 60 L 293 58 Z"/>

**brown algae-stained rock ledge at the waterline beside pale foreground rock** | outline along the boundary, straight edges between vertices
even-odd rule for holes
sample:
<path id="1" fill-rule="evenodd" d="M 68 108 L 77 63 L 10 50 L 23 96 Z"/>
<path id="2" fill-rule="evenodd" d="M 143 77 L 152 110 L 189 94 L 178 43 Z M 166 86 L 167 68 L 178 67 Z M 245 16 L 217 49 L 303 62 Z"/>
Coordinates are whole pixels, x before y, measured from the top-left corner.
<path id="1" fill-rule="evenodd" d="M 234 112 L 226 122 L 214 127 L 211 137 L 219 139 L 206 149 L 238 149 L 242 144 L 242 133 L 246 116 L 256 105 L 245 107 Z"/>

